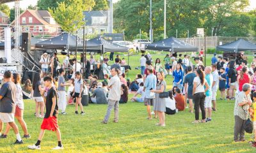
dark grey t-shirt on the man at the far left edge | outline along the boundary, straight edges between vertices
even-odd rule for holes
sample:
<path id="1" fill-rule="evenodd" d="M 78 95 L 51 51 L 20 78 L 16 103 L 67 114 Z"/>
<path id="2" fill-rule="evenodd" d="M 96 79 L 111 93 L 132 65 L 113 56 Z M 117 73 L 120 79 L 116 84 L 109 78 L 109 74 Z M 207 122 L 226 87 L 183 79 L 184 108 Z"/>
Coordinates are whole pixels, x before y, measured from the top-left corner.
<path id="1" fill-rule="evenodd" d="M 3 98 L 0 101 L 1 113 L 14 113 L 15 112 L 15 94 L 16 86 L 13 82 L 6 82 L 0 89 L 0 96 Z"/>

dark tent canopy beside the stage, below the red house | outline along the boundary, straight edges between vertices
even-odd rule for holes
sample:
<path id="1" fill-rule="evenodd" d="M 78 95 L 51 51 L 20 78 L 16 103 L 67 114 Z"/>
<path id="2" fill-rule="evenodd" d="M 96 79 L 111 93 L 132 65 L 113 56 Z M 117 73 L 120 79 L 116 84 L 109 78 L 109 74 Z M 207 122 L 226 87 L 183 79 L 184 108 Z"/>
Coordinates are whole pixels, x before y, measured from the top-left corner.
<path id="1" fill-rule="evenodd" d="M 83 40 L 77 38 L 77 43 L 83 43 Z M 54 38 L 50 38 L 49 40 L 41 41 L 40 43 L 36 43 L 36 48 L 45 48 L 45 49 L 59 49 L 66 50 L 71 45 L 76 45 L 76 36 L 64 33 L 60 36 L 56 36 Z"/>

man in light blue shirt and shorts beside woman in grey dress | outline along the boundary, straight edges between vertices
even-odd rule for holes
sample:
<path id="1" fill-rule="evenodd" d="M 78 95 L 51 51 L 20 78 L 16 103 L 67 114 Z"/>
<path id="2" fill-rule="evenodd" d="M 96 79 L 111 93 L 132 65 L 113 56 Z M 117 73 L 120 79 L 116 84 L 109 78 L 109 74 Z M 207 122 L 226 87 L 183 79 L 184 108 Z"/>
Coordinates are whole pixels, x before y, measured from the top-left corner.
<path id="1" fill-rule="evenodd" d="M 154 69 L 152 66 L 148 66 L 147 73 L 149 75 L 147 75 L 147 78 L 145 79 L 145 84 L 143 89 L 143 91 L 145 91 L 144 105 L 147 106 L 148 120 L 152 120 L 150 106 L 153 106 L 154 98 L 155 98 L 155 93 L 151 92 L 150 90 L 156 89 L 156 75 L 153 74 L 153 70 Z M 157 117 L 157 114 L 155 112 L 155 118 L 156 117 Z"/>

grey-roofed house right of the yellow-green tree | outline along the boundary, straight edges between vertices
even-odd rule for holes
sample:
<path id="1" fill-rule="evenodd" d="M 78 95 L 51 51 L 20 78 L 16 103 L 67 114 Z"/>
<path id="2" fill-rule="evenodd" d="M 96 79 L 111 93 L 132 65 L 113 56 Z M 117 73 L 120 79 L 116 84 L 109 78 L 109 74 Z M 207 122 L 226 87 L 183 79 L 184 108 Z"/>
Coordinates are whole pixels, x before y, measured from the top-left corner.
<path id="1" fill-rule="evenodd" d="M 87 34 L 109 33 L 108 11 L 83 11 Z"/>

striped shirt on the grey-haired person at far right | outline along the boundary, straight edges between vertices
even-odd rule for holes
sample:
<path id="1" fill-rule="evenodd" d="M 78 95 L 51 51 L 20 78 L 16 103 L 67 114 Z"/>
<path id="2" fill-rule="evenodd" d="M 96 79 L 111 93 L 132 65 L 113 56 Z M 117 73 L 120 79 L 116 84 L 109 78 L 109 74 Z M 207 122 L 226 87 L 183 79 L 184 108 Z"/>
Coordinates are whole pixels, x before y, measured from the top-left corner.
<path id="1" fill-rule="evenodd" d="M 234 107 L 234 115 L 235 116 L 239 116 L 241 119 L 243 120 L 247 120 L 248 119 L 248 109 L 249 109 L 249 105 L 243 105 L 243 106 L 239 106 L 239 103 L 243 103 L 244 101 L 248 101 L 251 100 L 250 98 L 250 94 L 245 95 L 245 92 L 239 92 L 236 96 L 236 103 L 235 103 L 235 107 Z"/>

